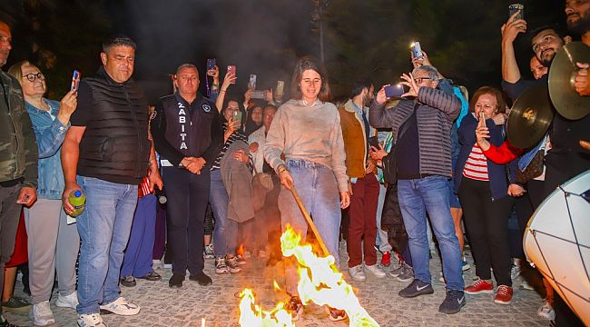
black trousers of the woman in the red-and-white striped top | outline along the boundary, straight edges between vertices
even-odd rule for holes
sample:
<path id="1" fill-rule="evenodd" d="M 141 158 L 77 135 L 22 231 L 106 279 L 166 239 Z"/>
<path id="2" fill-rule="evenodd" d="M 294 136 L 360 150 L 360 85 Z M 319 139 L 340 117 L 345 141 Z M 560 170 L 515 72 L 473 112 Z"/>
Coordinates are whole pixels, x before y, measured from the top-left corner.
<path id="1" fill-rule="evenodd" d="M 461 179 L 458 192 L 467 227 L 471 252 L 476 262 L 477 277 L 492 278 L 498 285 L 512 286 L 510 246 L 508 244 L 508 217 L 514 199 L 507 195 L 492 201 L 488 182 Z"/>

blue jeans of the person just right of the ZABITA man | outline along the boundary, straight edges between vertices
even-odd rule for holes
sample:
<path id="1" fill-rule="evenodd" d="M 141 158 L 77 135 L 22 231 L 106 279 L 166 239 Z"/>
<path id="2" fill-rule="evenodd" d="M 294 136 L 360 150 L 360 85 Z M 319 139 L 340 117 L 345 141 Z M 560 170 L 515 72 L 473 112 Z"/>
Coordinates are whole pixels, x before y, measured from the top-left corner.
<path id="1" fill-rule="evenodd" d="M 211 171 L 209 203 L 215 217 L 215 229 L 213 229 L 215 255 L 222 257 L 226 254 L 235 254 L 238 246 L 238 222 L 228 219 L 230 198 L 221 180 L 220 169 Z"/>

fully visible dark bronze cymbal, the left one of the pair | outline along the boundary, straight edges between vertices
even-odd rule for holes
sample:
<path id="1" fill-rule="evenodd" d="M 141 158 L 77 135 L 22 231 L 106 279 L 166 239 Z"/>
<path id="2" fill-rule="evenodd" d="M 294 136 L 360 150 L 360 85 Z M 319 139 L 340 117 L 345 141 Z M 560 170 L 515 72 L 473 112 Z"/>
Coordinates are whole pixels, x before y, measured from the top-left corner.
<path id="1" fill-rule="evenodd" d="M 535 146 L 547 133 L 553 116 L 554 108 L 546 84 L 529 88 L 516 99 L 508 114 L 508 141 L 521 149 Z"/>

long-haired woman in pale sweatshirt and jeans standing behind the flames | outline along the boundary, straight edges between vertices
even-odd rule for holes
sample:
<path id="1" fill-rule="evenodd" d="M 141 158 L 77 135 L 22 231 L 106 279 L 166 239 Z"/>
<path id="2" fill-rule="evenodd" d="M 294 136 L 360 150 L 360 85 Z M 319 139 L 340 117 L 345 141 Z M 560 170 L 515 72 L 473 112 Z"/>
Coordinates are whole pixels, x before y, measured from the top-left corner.
<path id="1" fill-rule="evenodd" d="M 305 241 L 308 225 L 289 191 L 294 185 L 338 266 L 340 209 L 350 204 L 349 176 L 338 109 L 329 103 L 328 75 L 317 59 L 303 57 L 295 65 L 291 96 L 275 114 L 264 145 L 264 158 L 283 185 L 282 229 L 290 224 Z M 292 294 L 287 307 L 297 320 L 303 305 L 297 295 L 296 265 L 287 264 L 285 269 L 286 290 Z M 343 320 L 346 313 L 330 308 L 329 318 Z"/>

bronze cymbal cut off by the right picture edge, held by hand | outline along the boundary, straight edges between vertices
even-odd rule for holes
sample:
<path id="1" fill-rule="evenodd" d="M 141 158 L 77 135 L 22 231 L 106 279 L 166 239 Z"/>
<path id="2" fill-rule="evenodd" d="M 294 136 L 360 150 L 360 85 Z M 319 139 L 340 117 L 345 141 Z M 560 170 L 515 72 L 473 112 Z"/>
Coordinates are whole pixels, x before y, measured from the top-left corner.
<path id="1" fill-rule="evenodd" d="M 557 113 L 576 120 L 590 114 L 590 96 L 575 92 L 578 67 L 575 63 L 590 63 L 590 46 L 581 42 L 564 45 L 553 58 L 549 69 L 549 95 Z"/>

